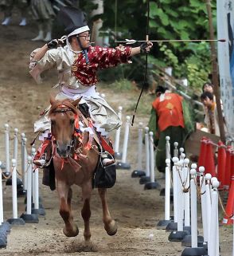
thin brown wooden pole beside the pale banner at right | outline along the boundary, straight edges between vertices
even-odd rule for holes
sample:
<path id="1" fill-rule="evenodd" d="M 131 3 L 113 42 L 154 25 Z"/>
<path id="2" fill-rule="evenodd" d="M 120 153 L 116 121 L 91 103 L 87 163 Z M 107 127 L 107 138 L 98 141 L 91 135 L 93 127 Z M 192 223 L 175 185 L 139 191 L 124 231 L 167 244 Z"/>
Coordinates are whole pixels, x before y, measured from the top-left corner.
<path id="1" fill-rule="evenodd" d="M 213 18 L 212 18 L 212 10 L 211 10 L 211 0 L 206 0 L 206 8 L 209 18 L 209 39 L 210 48 L 211 48 L 211 61 L 212 61 L 212 83 L 214 86 L 214 95 L 216 96 L 216 108 L 218 112 L 218 121 L 220 127 L 220 140 L 225 143 L 225 133 L 224 133 L 224 118 L 223 112 L 220 104 L 220 89 L 219 89 L 219 78 L 218 78 L 218 66 L 217 66 L 217 55 L 214 40 L 214 32 L 213 32 Z"/>

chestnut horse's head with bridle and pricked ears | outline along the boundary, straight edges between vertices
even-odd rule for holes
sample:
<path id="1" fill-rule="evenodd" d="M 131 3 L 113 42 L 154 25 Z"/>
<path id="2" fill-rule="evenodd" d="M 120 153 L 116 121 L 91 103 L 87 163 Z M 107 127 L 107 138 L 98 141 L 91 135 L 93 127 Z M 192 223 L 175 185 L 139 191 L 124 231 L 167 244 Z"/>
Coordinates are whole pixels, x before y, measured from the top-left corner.
<path id="1" fill-rule="evenodd" d="M 50 98 L 51 133 L 61 158 L 70 156 L 74 147 L 75 120 L 79 111 L 76 106 L 80 99 L 72 101 Z"/>

